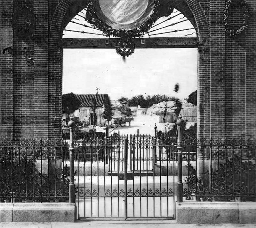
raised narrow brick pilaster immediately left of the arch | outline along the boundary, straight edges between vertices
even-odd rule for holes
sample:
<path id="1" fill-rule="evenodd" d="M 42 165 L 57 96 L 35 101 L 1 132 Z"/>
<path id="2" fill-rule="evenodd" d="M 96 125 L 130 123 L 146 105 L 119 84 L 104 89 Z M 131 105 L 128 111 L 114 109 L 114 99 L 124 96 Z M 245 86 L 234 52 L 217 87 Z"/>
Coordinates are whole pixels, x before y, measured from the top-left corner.
<path id="1" fill-rule="evenodd" d="M 48 138 L 48 2 L 34 1 L 34 137 Z"/>

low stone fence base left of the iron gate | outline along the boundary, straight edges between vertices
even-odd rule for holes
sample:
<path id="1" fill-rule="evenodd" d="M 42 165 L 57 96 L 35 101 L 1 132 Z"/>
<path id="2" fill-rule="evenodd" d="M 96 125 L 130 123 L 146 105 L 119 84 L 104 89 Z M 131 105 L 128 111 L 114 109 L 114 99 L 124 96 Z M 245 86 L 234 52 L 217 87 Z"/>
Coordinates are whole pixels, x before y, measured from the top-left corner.
<path id="1" fill-rule="evenodd" d="M 1 203 L 1 222 L 75 222 L 73 203 Z"/>

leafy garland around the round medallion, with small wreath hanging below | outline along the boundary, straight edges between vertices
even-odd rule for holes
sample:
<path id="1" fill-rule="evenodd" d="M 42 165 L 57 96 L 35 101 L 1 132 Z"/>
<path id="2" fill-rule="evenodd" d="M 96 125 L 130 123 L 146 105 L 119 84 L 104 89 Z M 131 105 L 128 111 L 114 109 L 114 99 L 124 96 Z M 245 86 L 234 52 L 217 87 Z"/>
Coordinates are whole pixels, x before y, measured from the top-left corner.
<path id="1" fill-rule="evenodd" d="M 116 52 L 123 57 L 134 53 L 134 38 L 142 37 L 144 33 L 148 32 L 157 19 L 163 16 L 168 16 L 173 12 L 173 6 L 168 2 L 155 1 L 152 14 L 140 27 L 133 30 L 114 29 L 98 17 L 94 4 L 94 1 L 88 1 L 85 20 L 95 28 L 100 29 L 108 37 L 114 36 L 120 38 L 116 43 Z M 126 43 L 125 47 L 123 46 L 123 43 Z"/>

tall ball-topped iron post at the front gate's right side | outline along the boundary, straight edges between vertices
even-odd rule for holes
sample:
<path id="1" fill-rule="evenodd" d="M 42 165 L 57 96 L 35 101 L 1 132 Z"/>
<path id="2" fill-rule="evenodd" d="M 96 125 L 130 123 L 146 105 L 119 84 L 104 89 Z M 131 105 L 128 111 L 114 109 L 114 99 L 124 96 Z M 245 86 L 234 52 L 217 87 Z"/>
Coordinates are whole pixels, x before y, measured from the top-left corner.
<path id="1" fill-rule="evenodd" d="M 182 202 L 183 198 L 183 183 L 182 183 L 182 145 L 181 145 L 181 130 L 180 126 L 183 124 L 181 116 L 176 122 L 177 124 L 177 153 L 178 153 L 178 182 L 177 182 L 177 202 Z"/>

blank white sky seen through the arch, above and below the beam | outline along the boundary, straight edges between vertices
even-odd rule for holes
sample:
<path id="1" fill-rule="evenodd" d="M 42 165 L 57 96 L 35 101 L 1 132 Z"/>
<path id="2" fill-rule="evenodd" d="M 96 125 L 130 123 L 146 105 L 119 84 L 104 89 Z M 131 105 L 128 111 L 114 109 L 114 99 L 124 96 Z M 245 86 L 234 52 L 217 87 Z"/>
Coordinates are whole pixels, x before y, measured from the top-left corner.
<path id="1" fill-rule="evenodd" d="M 183 15 L 178 16 L 177 20 L 180 17 Z M 78 22 L 84 24 L 84 21 Z M 171 21 L 171 23 L 174 22 Z M 190 22 L 183 22 L 175 28 L 165 28 L 158 32 L 190 27 L 192 27 Z M 78 31 L 84 31 L 83 28 L 73 23 L 69 23 L 66 27 L 66 29 Z M 154 29 L 156 28 L 157 26 Z M 93 30 L 91 29 L 90 32 Z M 189 30 L 179 34 L 167 33 L 157 36 L 184 36 L 193 32 L 194 30 Z M 63 38 L 89 37 L 99 38 L 96 35 L 88 36 L 88 34 L 65 31 L 63 35 Z M 131 98 L 139 94 L 166 94 L 183 99 L 196 90 L 196 78 L 197 48 L 135 48 L 135 52 L 127 57 L 125 62 L 115 49 L 64 49 L 63 94 L 95 93 L 98 87 L 99 93 L 108 93 L 110 99 L 118 99 L 121 96 Z M 180 84 L 178 93 L 173 91 L 176 83 Z"/>

